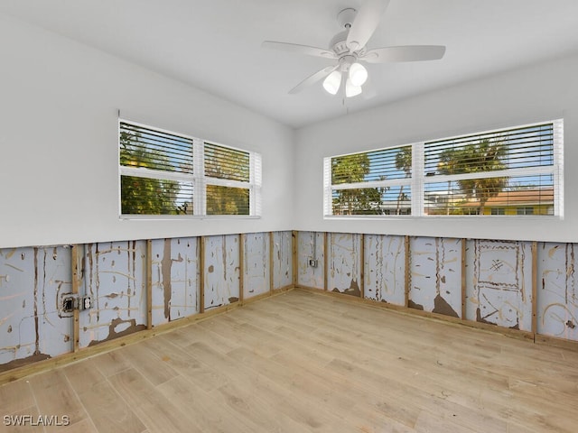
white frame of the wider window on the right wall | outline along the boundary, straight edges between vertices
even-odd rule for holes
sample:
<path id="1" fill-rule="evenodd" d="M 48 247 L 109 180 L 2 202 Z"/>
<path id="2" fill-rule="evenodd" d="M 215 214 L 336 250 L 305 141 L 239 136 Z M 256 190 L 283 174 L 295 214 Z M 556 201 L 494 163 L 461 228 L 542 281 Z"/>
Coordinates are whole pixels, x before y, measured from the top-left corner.
<path id="1" fill-rule="evenodd" d="M 496 170 L 496 171 L 487 171 L 487 172 L 477 172 L 477 173 L 470 173 L 470 174 L 452 174 L 452 175 L 435 175 L 432 177 L 426 177 L 424 172 L 424 146 L 425 143 L 430 143 L 433 141 L 443 141 L 443 140 L 451 140 L 453 138 L 460 138 L 461 136 L 465 135 L 476 135 L 476 134 L 493 134 L 499 133 L 502 131 L 508 131 L 511 129 L 517 128 L 526 128 L 532 127 L 541 124 L 553 124 L 553 140 L 554 140 L 554 163 L 551 166 L 539 166 L 539 167 L 531 167 L 531 168 L 523 168 L 523 169 L 507 169 L 507 170 Z M 461 136 L 455 137 L 446 137 L 441 139 L 435 140 L 427 140 L 418 143 L 412 144 L 405 144 L 412 146 L 412 177 L 408 179 L 396 179 L 396 180 L 379 180 L 379 181 L 368 181 L 368 182 L 356 182 L 356 183 L 348 183 L 348 184 L 337 184 L 331 185 L 331 159 L 337 158 L 340 156 L 347 156 L 352 154 L 358 153 L 368 153 L 368 152 L 376 152 L 381 149 L 369 150 L 365 152 L 353 152 L 353 153 L 346 153 L 343 155 L 333 155 L 329 157 L 323 158 L 323 217 L 326 219 L 340 219 L 340 218 L 378 218 L 378 219 L 390 219 L 390 218 L 472 218 L 472 217 L 480 217 L 480 218 L 487 218 L 487 217 L 537 217 L 537 218 L 556 218 L 556 219 L 564 219 L 564 119 L 555 119 L 555 120 L 546 120 L 544 122 L 536 122 L 532 124 L 521 124 L 521 125 L 514 125 L 510 127 L 503 127 L 495 130 L 489 131 L 482 131 L 478 133 L 472 134 L 462 134 Z M 401 148 L 405 145 L 399 146 L 392 146 L 391 148 Z M 552 175 L 554 180 L 554 215 L 533 215 L 533 216 L 511 216 L 511 215 L 499 215 L 499 216 L 489 216 L 489 215 L 450 215 L 450 216 L 443 216 L 443 215 L 426 215 L 424 211 L 424 190 L 425 185 L 428 183 L 442 183 L 448 181 L 455 181 L 455 180 L 466 180 L 466 179 L 487 179 L 487 178 L 494 178 L 494 177 L 517 177 L 517 176 L 528 176 L 528 175 L 539 175 L 539 174 L 547 174 Z M 332 215 L 332 191 L 336 189 L 361 189 L 361 188 L 378 188 L 378 187 L 387 187 L 387 186 L 399 186 L 399 185 L 409 185 L 411 188 L 411 195 L 412 195 L 412 208 L 411 208 L 411 215 L 352 215 L 352 216 L 343 216 L 343 215 Z"/>

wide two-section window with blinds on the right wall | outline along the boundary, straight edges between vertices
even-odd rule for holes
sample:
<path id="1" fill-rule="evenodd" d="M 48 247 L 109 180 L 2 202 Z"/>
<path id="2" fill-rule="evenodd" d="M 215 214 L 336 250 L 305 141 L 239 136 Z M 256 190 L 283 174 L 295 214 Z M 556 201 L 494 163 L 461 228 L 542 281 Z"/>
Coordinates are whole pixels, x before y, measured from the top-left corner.
<path id="1" fill-rule="evenodd" d="M 325 158 L 325 216 L 561 217 L 563 128 L 555 120 Z"/>

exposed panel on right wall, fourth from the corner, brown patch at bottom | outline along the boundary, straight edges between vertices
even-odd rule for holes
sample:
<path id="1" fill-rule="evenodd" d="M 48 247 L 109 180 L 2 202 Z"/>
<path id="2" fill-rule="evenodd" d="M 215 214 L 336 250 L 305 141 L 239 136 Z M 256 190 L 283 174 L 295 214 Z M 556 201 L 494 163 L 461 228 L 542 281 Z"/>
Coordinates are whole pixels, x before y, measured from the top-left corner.
<path id="1" fill-rule="evenodd" d="M 461 317 L 461 239 L 410 238 L 409 306 Z"/>

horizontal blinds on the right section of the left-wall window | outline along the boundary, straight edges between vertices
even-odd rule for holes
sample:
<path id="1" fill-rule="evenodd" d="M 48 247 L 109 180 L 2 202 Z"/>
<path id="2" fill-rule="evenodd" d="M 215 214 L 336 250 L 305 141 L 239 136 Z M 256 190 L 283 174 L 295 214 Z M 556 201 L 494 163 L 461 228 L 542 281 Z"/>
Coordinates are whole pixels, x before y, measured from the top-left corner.
<path id="1" fill-rule="evenodd" d="M 207 215 L 251 215 L 251 155 L 204 143 Z"/>

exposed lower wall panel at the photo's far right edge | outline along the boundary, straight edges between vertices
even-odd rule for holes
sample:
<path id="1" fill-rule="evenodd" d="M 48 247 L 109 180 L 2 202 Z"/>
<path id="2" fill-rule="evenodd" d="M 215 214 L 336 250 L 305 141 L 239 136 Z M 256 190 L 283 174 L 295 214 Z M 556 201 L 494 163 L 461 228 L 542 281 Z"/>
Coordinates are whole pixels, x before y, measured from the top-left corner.
<path id="1" fill-rule="evenodd" d="M 538 244 L 537 332 L 578 341 L 575 244 Z"/>

